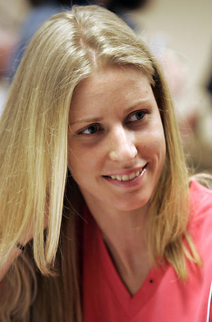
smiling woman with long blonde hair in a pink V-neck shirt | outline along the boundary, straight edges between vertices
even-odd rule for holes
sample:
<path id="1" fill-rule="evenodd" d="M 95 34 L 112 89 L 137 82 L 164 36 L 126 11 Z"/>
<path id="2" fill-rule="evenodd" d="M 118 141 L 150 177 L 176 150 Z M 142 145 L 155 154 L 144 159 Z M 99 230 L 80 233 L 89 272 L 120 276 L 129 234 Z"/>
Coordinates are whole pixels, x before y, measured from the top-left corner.
<path id="1" fill-rule="evenodd" d="M 0 142 L 1 321 L 209 321 L 212 194 L 189 187 L 165 80 L 115 14 L 40 27 Z"/>

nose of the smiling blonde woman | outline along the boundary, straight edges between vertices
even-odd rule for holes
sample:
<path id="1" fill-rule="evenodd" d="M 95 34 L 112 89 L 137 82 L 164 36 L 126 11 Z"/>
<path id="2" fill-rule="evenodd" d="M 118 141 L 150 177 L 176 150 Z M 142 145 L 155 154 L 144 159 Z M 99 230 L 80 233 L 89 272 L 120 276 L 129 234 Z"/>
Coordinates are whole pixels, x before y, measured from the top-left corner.
<path id="1" fill-rule="evenodd" d="M 122 126 L 115 128 L 109 135 L 109 159 L 112 161 L 130 161 L 137 155 L 134 136 Z"/>

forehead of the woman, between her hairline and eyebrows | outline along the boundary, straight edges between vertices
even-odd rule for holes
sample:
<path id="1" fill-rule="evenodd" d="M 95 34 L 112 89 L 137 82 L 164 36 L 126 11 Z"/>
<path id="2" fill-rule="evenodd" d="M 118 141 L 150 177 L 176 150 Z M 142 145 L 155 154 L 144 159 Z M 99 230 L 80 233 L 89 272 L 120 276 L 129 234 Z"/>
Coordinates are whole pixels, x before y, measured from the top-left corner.
<path id="1" fill-rule="evenodd" d="M 153 98 L 148 77 L 142 71 L 132 67 L 107 67 L 95 71 L 76 87 L 70 112 L 86 111 L 88 106 L 96 109 Z"/>

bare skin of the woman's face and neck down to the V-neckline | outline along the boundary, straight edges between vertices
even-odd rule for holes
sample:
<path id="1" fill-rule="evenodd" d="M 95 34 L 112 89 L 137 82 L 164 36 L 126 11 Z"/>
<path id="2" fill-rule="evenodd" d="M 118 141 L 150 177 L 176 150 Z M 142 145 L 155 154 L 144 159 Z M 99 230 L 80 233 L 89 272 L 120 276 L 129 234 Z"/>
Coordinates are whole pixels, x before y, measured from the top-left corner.
<path id="1" fill-rule="evenodd" d="M 165 160 L 148 78 L 130 67 L 109 67 L 83 81 L 70 105 L 68 144 L 70 172 L 134 295 L 150 269 L 145 222 Z M 140 168 L 145 171 L 129 180 Z M 119 181 L 117 175 L 128 179 Z"/>

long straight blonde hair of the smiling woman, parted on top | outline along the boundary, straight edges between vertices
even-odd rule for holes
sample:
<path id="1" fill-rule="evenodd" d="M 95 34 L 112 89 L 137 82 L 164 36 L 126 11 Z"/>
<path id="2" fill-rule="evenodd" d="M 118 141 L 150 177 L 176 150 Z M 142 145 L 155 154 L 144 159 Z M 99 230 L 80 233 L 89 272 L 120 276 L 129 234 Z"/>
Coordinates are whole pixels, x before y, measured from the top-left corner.
<path id="1" fill-rule="evenodd" d="M 115 14 L 95 5 L 76 6 L 51 17 L 36 32 L 1 117 L 0 262 L 7 260 L 25 231 L 34 235 L 33 245 L 27 245 L 3 280 L 3 322 L 83 319 L 82 223 L 77 216 L 83 201 L 67 176 L 68 113 L 77 84 L 102 65 L 128 65 L 145 73 L 161 113 L 167 154 L 148 216 L 152 262 L 165 258 L 183 280 L 187 277 L 185 257 L 200 264 L 186 229 L 189 178 L 185 157 L 159 66 Z M 63 209 L 66 216 L 62 218 Z"/>

